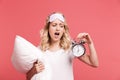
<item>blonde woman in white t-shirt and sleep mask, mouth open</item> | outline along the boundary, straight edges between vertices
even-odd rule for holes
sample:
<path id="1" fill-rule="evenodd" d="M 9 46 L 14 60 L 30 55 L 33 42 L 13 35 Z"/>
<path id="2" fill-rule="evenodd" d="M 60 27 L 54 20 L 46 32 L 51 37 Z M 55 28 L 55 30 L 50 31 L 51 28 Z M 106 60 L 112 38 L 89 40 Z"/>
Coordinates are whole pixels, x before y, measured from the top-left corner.
<path id="1" fill-rule="evenodd" d="M 74 80 L 72 62 L 74 58 L 92 66 L 98 67 L 98 58 L 93 41 L 88 33 L 79 33 L 78 39 L 84 40 L 89 46 L 89 54 L 75 57 L 71 51 L 71 38 L 65 17 L 61 13 L 52 13 L 46 20 L 46 25 L 41 32 L 40 50 L 52 66 L 52 80 Z M 26 74 L 30 80 L 34 74 L 44 70 L 40 61 L 34 63 L 33 68 Z"/>

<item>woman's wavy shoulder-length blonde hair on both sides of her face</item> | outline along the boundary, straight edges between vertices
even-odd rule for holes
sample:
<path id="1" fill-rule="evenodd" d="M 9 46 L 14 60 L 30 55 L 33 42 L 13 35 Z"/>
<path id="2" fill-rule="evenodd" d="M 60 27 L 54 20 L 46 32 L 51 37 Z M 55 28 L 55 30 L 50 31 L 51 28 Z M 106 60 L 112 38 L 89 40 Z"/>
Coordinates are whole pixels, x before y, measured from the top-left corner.
<path id="1" fill-rule="evenodd" d="M 55 12 L 52 14 L 55 14 Z M 40 48 L 42 51 L 46 51 L 50 47 L 50 35 L 49 35 L 50 22 L 48 22 L 49 17 L 50 16 L 48 16 L 48 18 L 46 20 L 46 25 L 43 29 L 43 33 L 41 36 Z M 63 15 L 63 17 L 64 17 L 64 15 Z M 60 47 L 63 48 L 64 50 L 68 50 L 68 49 L 70 49 L 71 39 L 70 39 L 70 35 L 69 35 L 68 25 L 66 24 L 66 21 L 64 23 L 65 23 L 65 25 L 64 25 L 65 32 L 63 33 L 63 36 L 61 37 Z"/>

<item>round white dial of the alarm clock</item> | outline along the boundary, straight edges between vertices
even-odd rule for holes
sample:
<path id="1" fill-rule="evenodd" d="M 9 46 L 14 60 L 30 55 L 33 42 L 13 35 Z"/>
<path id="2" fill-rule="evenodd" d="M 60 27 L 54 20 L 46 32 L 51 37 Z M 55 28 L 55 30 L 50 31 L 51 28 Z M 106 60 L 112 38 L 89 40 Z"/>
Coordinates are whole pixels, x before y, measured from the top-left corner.
<path id="1" fill-rule="evenodd" d="M 83 45 L 73 46 L 73 55 L 76 57 L 82 56 L 85 53 L 85 48 Z"/>

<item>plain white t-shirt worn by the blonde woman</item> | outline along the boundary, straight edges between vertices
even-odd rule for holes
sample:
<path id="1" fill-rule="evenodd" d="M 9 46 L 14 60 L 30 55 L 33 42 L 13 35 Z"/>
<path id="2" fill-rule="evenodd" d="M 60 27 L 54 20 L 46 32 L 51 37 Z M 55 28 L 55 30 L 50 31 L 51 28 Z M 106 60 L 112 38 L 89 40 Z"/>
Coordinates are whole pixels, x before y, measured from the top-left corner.
<path id="1" fill-rule="evenodd" d="M 52 68 L 52 80 L 74 80 L 72 67 L 74 55 L 70 51 L 46 50 L 44 58 Z"/>

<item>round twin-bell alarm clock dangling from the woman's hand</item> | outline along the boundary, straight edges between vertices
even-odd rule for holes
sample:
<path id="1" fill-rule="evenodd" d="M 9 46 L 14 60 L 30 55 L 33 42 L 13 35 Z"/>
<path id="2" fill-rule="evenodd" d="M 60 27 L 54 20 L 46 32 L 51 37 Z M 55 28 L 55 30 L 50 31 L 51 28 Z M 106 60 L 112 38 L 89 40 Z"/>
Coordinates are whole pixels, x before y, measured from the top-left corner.
<path id="1" fill-rule="evenodd" d="M 85 54 L 86 49 L 84 44 L 85 42 L 82 40 L 80 42 L 72 41 L 72 53 L 74 56 L 80 57 Z"/>

